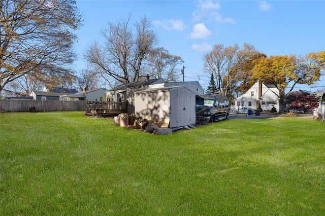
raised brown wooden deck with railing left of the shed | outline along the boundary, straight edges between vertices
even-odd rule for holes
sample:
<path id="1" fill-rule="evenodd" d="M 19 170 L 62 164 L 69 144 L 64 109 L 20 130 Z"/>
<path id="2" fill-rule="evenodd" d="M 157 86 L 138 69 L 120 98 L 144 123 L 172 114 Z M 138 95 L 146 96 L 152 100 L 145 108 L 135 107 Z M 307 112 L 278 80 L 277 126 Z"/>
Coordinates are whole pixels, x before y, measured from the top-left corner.
<path id="1" fill-rule="evenodd" d="M 115 114 L 126 113 L 126 102 L 102 102 L 102 101 L 88 101 L 86 108 L 86 115 L 101 115 L 110 116 Z"/>

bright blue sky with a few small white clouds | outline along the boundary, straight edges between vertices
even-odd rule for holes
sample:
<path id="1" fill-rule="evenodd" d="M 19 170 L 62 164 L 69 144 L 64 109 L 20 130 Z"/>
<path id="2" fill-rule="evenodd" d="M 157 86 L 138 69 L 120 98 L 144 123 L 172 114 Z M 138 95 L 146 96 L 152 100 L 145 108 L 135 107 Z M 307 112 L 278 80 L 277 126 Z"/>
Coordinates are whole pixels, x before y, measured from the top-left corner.
<path id="1" fill-rule="evenodd" d="M 159 47 L 185 61 L 184 81 L 208 86 L 203 55 L 214 45 L 241 48 L 244 43 L 271 55 L 305 55 L 325 50 L 325 1 L 90 1 L 77 0 L 84 23 L 77 30 L 79 53 L 76 69 L 86 67 L 82 53 L 92 41 L 102 41 L 99 32 L 108 22 L 127 19 L 132 23 L 146 16 L 154 24 Z M 297 85 L 295 90 L 318 88 Z"/>

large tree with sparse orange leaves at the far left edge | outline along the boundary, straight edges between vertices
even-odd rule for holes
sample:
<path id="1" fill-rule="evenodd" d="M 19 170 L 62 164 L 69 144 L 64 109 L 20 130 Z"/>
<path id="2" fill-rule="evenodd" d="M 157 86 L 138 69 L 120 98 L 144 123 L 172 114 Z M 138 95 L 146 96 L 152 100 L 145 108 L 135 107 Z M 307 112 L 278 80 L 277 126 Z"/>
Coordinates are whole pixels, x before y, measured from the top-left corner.
<path id="1" fill-rule="evenodd" d="M 76 57 L 72 30 L 81 24 L 75 5 L 72 0 L 0 0 L 0 92 L 30 73 L 69 75 Z"/>

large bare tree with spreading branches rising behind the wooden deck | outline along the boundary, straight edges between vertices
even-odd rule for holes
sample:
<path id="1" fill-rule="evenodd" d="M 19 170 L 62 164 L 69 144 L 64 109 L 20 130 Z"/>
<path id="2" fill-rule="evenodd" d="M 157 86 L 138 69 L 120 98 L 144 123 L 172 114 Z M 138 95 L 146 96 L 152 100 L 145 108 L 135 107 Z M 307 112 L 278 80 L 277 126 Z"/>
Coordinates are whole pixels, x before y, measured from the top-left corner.
<path id="1" fill-rule="evenodd" d="M 134 29 L 130 21 L 131 16 L 127 20 L 109 23 L 107 29 L 101 30 L 104 46 L 95 41 L 84 53 L 85 60 L 101 73 L 111 87 L 116 82 L 138 81 L 143 60 L 157 44 L 156 34 L 146 17 L 137 22 Z"/>

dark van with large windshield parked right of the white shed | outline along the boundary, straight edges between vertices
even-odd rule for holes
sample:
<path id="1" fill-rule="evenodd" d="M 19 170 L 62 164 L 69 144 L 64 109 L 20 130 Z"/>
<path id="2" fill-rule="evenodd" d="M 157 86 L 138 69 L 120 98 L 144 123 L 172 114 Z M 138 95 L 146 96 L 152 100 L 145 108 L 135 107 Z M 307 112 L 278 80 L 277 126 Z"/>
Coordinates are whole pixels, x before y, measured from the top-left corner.
<path id="1" fill-rule="evenodd" d="M 215 122 L 228 118 L 230 104 L 226 96 L 216 94 L 197 95 L 196 112 L 197 118 Z"/>

